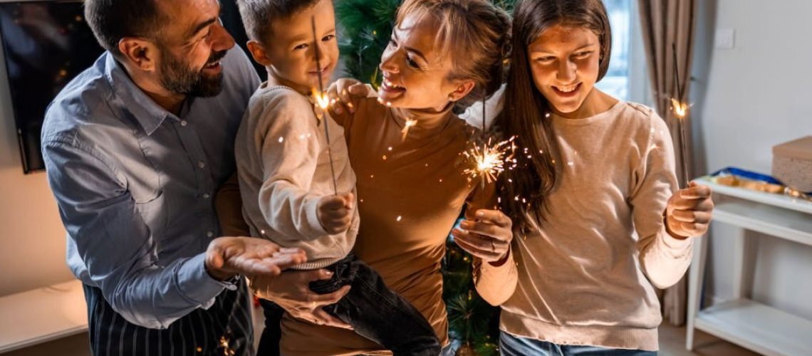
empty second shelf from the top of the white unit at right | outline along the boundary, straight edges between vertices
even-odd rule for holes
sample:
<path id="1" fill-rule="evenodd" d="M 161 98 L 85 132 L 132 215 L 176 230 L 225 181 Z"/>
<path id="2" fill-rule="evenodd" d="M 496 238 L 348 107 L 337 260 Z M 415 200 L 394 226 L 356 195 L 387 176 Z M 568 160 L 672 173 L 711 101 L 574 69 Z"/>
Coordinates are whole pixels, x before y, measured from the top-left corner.
<path id="1" fill-rule="evenodd" d="M 747 200 L 719 201 L 713 220 L 812 246 L 812 217 Z"/>

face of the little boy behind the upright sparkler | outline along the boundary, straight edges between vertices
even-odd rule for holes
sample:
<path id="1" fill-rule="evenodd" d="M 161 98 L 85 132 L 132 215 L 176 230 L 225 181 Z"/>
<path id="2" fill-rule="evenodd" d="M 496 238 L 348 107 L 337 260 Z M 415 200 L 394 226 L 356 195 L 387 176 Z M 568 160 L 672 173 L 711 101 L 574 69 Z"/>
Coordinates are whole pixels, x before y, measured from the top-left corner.
<path id="1" fill-rule="evenodd" d="M 319 72 L 316 65 L 316 51 L 313 47 L 313 27 L 311 17 L 316 20 L 316 38 L 319 53 Z M 330 83 L 330 76 L 339 61 L 339 45 L 335 38 L 335 14 L 333 2 L 322 0 L 288 19 L 280 19 L 273 25 L 273 33 L 264 46 L 268 71 L 273 79 L 298 92 L 309 92 L 318 88 L 318 77 L 322 83 Z"/>

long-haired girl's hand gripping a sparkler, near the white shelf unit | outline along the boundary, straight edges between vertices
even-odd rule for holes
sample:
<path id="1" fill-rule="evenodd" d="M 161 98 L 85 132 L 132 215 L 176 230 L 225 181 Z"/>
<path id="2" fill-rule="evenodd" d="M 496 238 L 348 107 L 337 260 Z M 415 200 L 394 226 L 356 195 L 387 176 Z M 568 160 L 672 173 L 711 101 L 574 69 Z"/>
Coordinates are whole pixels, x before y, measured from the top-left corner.
<path id="1" fill-rule="evenodd" d="M 674 238 L 702 236 L 708 230 L 713 215 L 711 188 L 690 182 L 674 193 L 666 207 L 666 229 Z"/>

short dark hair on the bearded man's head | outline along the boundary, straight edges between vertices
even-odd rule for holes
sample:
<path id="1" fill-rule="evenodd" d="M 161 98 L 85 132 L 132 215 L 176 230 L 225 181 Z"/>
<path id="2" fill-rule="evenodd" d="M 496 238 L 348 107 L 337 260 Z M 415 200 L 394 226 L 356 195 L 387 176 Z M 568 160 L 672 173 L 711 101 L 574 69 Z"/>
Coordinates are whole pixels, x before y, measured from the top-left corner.
<path id="1" fill-rule="evenodd" d="M 156 0 L 85 0 L 84 18 L 104 49 L 120 56 L 119 41 L 129 36 L 154 38 L 162 24 Z"/>

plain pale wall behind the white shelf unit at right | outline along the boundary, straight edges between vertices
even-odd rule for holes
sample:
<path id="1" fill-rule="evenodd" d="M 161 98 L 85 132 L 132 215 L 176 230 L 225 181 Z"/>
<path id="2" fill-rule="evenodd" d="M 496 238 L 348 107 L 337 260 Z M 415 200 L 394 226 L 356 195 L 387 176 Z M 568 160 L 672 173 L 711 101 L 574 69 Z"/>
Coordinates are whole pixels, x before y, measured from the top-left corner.
<path id="1" fill-rule="evenodd" d="M 769 174 L 771 147 L 812 135 L 812 30 L 808 0 L 700 1 L 692 101 L 699 174 L 729 165 Z M 733 49 L 715 49 L 732 28 Z M 706 296 L 732 295 L 736 229 L 711 226 Z M 812 320 L 812 247 L 757 240 L 752 298 Z"/>

